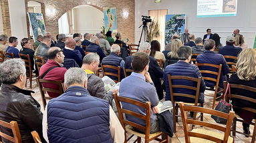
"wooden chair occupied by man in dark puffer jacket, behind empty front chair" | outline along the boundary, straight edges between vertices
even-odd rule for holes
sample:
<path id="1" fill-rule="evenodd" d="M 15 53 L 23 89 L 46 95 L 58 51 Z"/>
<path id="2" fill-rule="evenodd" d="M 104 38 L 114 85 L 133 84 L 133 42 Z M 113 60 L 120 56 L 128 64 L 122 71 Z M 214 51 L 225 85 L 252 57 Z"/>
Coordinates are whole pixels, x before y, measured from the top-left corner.
<path id="1" fill-rule="evenodd" d="M 172 115 L 173 115 L 173 125 L 174 125 L 174 132 L 176 132 L 176 122 L 178 122 L 178 102 L 175 101 L 175 97 L 185 97 L 185 98 L 193 98 L 195 99 L 195 102 L 193 103 L 185 103 L 189 105 L 194 105 L 194 106 L 202 106 L 203 103 L 199 103 L 199 94 L 200 94 L 200 84 L 201 84 L 201 77 L 199 78 L 193 78 L 189 76 L 171 76 L 170 74 L 168 76 L 168 84 L 170 88 L 170 100 L 172 101 Z M 181 85 L 181 84 L 172 84 L 172 80 L 186 80 L 187 82 L 195 82 L 197 87 L 195 86 L 186 86 L 186 85 Z M 190 90 L 195 90 L 196 94 L 182 94 L 178 92 L 174 92 L 176 88 L 184 88 L 184 89 L 190 89 Z M 193 114 L 193 118 L 196 119 L 197 113 Z M 203 121 L 203 114 L 201 114 L 197 119 L 201 118 L 201 121 Z"/>

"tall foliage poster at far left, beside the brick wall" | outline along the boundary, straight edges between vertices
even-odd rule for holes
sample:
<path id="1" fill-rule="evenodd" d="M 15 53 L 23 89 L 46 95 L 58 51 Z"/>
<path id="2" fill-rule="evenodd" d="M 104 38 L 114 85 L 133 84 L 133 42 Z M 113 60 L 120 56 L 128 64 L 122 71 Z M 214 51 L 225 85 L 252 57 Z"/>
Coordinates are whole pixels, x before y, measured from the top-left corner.
<path id="1" fill-rule="evenodd" d="M 29 23 L 32 29 L 33 39 L 37 39 L 38 35 L 45 35 L 45 23 L 43 21 L 42 13 L 27 13 L 29 16 Z"/>

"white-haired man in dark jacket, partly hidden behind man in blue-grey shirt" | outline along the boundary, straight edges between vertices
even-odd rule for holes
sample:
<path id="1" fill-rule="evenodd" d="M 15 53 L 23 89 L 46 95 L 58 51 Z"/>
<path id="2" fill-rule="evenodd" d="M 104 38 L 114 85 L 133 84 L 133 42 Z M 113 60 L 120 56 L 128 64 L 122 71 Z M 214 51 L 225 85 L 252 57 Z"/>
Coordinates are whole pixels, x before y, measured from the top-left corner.
<path id="1" fill-rule="evenodd" d="M 150 53 L 150 44 L 147 42 L 140 43 L 140 47 L 138 47 L 139 52 L 146 53 L 149 55 Z M 154 86 L 156 87 L 156 92 L 158 94 L 158 98 L 162 100 L 164 97 L 163 89 L 161 85 L 162 77 L 164 76 L 164 71 L 159 67 L 156 59 L 154 57 L 149 57 L 150 63 L 149 63 L 149 69 L 148 72 L 150 73 L 150 76 L 152 78 L 152 81 L 154 82 Z M 126 57 L 124 61 L 125 65 L 124 67 L 126 69 L 132 69 L 132 56 Z"/>

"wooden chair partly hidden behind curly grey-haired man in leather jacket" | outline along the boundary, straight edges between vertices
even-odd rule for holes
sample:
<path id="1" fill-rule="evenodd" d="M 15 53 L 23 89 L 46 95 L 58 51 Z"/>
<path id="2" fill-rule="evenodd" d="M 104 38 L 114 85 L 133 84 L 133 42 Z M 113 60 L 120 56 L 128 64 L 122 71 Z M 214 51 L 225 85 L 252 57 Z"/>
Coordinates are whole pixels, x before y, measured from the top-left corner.
<path id="1" fill-rule="evenodd" d="M 32 73 L 30 57 L 29 55 L 24 55 L 19 53 L 19 58 L 21 58 L 25 62 L 26 69 L 29 69 L 29 72 L 27 73 L 27 79 L 29 79 L 29 82 L 30 82 L 29 87 L 32 88 L 32 78 L 35 76 L 33 76 L 33 73 Z M 27 80 L 26 80 L 25 86 L 27 87 Z"/>

